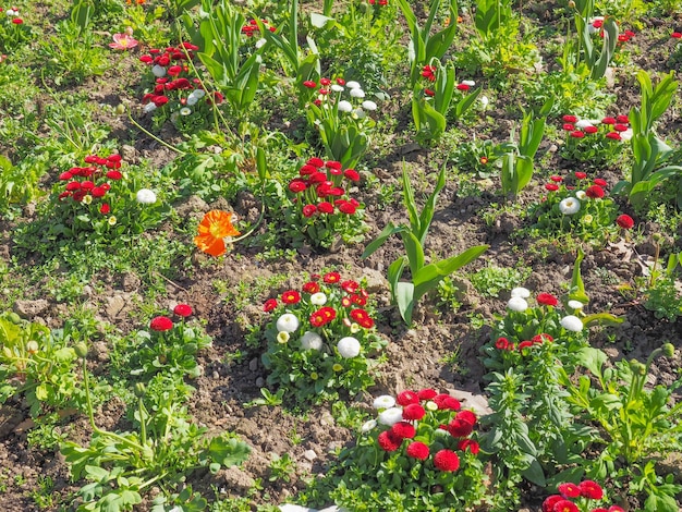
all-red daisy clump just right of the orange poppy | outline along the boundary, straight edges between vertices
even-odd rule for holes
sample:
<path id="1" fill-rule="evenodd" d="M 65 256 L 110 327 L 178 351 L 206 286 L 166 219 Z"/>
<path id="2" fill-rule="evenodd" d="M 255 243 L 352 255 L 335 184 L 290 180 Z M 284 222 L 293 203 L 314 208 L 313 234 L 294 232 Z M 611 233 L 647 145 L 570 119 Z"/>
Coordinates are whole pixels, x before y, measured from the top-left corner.
<path id="1" fill-rule="evenodd" d="M 343 169 L 341 162 L 310 158 L 300 169 L 299 176 L 289 182 L 293 196 L 287 211 L 288 225 L 315 247 L 329 248 L 339 239 L 344 242 L 362 240 L 367 230 L 363 205 L 348 193 L 348 186 L 360 182 L 354 169 Z"/>

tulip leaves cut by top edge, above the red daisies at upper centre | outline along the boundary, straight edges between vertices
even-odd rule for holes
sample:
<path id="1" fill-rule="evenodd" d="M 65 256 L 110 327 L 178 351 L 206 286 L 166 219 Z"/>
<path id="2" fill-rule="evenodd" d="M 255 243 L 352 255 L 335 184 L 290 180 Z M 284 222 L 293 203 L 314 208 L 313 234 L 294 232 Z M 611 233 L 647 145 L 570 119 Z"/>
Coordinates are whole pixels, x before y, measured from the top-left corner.
<path id="1" fill-rule="evenodd" d="M 407 26 L 410 27 L 410 83 L 414 89 L 415 84 L 419 80 L 422 69 L 434 59 L 440 61 L 456 35 L 458 19 L 456 0 L 449 0 L 448 12 L 450 13 L 450 24 L 431 35 L 431 28 L 436 16 L 439 14 L 442 0 L 431 0 L 428 11 L 428 17 L 424 26 L 419 26 L 417 16 L 412 10 L 412 5 L 407 0 L 398 0 Z"/>

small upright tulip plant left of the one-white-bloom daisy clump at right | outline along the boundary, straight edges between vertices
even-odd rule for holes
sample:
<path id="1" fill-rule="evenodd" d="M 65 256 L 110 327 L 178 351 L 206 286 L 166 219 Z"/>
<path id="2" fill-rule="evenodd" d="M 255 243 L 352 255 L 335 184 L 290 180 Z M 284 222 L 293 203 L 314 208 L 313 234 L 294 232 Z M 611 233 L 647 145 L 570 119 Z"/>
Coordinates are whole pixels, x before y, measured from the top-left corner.
<path id="1" fill-rule="evenodd" d="M 533 111 L 523 112 L 519 143 L 515 142 L 514 130 L 510 134 L 510 142 L 500 146 L 503 151 L 500 158 L 502 168 L 500 180 L 502 193 L 516 197 L 533 178 L 533 159 L 537 153 L 543 135 L 547 114 L 551 111 L 553 99 L 548 99 L 540 109 L 539 117 Z"/>

